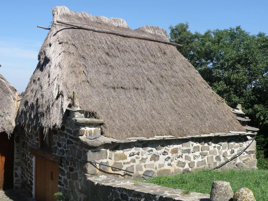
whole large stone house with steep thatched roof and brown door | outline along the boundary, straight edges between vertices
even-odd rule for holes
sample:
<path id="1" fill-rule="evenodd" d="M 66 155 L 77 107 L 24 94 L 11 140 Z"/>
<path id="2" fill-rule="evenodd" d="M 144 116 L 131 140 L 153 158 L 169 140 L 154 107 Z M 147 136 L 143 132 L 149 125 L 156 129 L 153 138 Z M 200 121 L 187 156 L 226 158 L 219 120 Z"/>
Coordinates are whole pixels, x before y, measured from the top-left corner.
<path id="1" fill-rule="evenodd" d="M 211 169 L 254 140 L 237 121 L 234 112 L 241 110 L 232 112 L 165 43 L 164 29 L 132 30 L 123 19 L 65 6 L 52 13 L 17 115 L 21 187 L 36 200 L 54 200 L 57 191 L 90 200 L 91 175 L 146 178 Z M 254 141 L 221 168 L 255 169 L 256 163 Z"/>

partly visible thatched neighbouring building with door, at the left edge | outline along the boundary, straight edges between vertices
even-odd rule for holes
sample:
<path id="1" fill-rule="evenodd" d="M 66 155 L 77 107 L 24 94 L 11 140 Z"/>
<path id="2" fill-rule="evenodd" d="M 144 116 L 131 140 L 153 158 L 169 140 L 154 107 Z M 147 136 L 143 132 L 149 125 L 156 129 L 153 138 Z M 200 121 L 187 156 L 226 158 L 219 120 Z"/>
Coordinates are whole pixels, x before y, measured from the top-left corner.
<path id="1" fill-rule="evenodd" d="M 0 74 L 0 190 L 16 187 L 18 175 L 14 173 L 14 128 L 19 106 L 19 92 Z M 14 175 L 15 174 L 15 175 Z M 15 178 L 14 178 L 15 177 Z"/>

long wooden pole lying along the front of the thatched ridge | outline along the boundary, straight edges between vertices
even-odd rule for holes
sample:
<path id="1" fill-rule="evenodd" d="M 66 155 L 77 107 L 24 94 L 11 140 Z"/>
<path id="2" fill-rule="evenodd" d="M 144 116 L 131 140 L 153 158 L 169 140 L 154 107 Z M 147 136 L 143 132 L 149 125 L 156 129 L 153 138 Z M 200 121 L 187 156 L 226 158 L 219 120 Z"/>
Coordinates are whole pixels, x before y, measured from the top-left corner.
<path id="1" fill-rule="evenodd" d="M 146 36 L 137 36 L 137 35 L 126 34 L 126 33 L 121 33 L 121 32 L 111 31 L 111 30 L 93 29 L 93 28 L 88 28 L 88 27 L 84 27 L 84 26 L 80 26 L 80 25 L 76 25 L 76 24 L 71 24 L 71 23 L 68 23 L 68 22 L 60 21 L 60 20 L 57 20 L 57 23 L 66 24 L 68 26 L 73 26 L 73 27 L 76 27 L 78 29 L 85 29 L 85 30 L 95 31 L 95 32 L 105 33 L 105 34 L 114 34 L 114 35 L 117 35 L 117 36 L 123 36 L 123 37 L 127 37 L 127 38 L 137 38 L 137 39 L 142 39 L 142 40 L 147 40 L 147 41 L 154 41 L 154 42 L 159 42 L 159 43 L 164 43 L 164 44 L 169 44 L 169 45 L 175 45 L 175 46 L 182 47 L 181 44 L 173 43 L 173 42 L 170 42 L 170 41 L 167 41 L 167 40 L 162 40 L 162 39 L 155 39 L 155 38 L 150 38 L 150 37 L 146 37 Z"/>

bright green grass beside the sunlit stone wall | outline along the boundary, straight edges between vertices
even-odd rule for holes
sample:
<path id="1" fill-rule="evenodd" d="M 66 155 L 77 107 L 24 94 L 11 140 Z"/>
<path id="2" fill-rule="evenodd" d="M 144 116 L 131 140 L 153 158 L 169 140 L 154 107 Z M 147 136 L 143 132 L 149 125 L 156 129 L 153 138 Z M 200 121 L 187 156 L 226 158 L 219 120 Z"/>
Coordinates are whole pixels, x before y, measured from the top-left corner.
<path id="1" fill-rule="evenodd" d="M 235 192 L 241 187 L 253 191 L 256 200 L 268 200 L 268 170 L 200 170 L 174 176 L 159 176 L 145 182 L 189 191 L 210 193 L 212 182 L 223 180 L 230 182 Z"/>

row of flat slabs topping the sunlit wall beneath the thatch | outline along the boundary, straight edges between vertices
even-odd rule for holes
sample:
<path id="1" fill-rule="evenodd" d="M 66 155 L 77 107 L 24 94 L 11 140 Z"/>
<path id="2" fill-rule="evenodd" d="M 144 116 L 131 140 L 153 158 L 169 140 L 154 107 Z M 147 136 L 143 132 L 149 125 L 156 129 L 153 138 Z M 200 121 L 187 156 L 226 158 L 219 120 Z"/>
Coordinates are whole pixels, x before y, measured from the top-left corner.
<path id="1" fill-rule="evenodd" d="M 174 137 L 172 135 L 159 136 L 156 135 L 154 137 L 146 138 L 146 137 L 130 137 L 127 139 L 114 139 L 110 137 L 104 137 L 103 135 L 98 136 L 94 139 L 88 139 L 90 137 L 80 136 L 79 142 L 84 144 L 86 147 L 99 147 L 104 144 L 112 144 L 112 143 L 128 143 L 128 142 L 136 142 L 136 141 L 149 141 L 149 140 L 163 140 L 163 139 L 190 139 L 190 138 L 200 138 L 200 137 L 226 137 L 226 136 L 234 136 L 234 135 L 256 135 L 257 133 L 252 132 L 242 132 L 242 131 L 230 131 L 229 133 L 210 133 L 203 135 L 193 135 L 186 137 Z"/>

